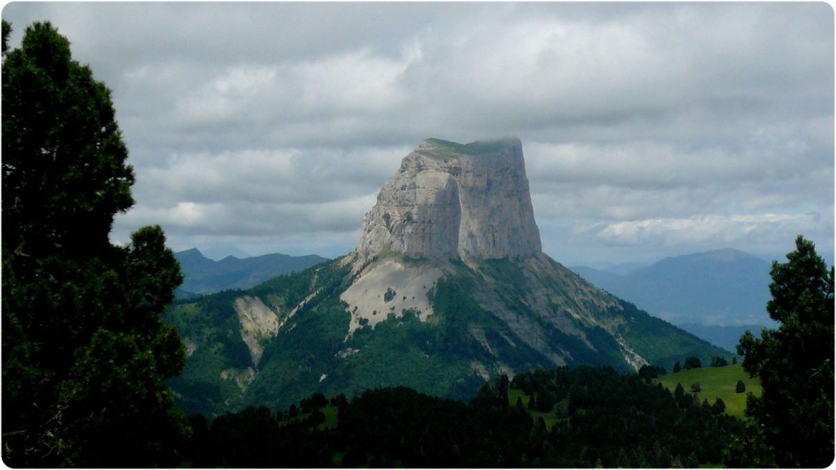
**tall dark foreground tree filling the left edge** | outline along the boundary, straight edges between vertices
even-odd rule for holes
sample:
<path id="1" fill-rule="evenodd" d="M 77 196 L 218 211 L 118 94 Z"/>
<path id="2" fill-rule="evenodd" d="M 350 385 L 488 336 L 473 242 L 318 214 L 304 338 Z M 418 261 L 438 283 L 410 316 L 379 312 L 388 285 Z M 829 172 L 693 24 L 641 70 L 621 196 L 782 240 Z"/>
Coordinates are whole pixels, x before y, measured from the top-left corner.
<path id="1" fill-rule="evenodd" d="M 110 90 L 50 23 L 3 22 L 3 461 L 176 462 L 163 381 L 185 354 L 158 315 L 181 283 L 160 227 L 110 244 L 133 170 Z"/>

